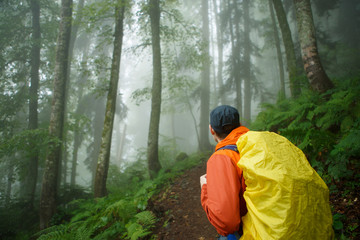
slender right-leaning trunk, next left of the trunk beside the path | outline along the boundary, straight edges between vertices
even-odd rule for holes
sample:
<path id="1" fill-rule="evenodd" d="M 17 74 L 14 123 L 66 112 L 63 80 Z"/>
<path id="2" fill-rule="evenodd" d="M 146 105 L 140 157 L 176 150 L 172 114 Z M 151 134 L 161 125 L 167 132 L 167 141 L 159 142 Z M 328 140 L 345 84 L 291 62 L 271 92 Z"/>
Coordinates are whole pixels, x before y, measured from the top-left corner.
<path id="1" fill-rule="evenodd" d="M 111 64 L 110 86 L 106 102 L 104 129 L 101 139 L 100 154 L 98 158 L 95 182 L 94 197 L 104 197 L 107 195 L 106 180 L 109 169 L 111 137 L 114 124 L 116 110 L 116 95 L 119 82 L 121 48 L 123 41 L 123 21 L 125 1 L 119 1 L 119 5 L 115 7 L 115 39 L 114 50 Z"/>

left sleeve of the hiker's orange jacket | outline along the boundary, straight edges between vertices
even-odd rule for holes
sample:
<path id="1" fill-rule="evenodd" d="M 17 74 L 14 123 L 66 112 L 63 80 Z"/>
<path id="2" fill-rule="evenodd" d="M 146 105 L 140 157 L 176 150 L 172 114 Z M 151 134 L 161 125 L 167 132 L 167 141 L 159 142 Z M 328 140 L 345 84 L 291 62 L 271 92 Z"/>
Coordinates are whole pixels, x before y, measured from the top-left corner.
<path id="1" fill-rule="evenodd" d="M 207 163 L 207 184 L 201 189 L 201 205 L 220 235 L 239 230 L 240 179 L 230 157 L 213 155 Z"/>

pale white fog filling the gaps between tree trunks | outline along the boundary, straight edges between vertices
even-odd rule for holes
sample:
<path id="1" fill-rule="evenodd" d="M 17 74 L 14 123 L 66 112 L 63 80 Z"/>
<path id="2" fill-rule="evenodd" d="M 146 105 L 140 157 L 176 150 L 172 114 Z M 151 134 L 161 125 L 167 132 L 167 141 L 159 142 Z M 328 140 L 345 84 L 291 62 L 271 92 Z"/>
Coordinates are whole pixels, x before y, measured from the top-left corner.
<path id="1" fill-rule="evenodd" d="M 42 30 L 41 65 L 39 70 L 39 98 L 38 109 L 39 128 L 48 129 L 51 113 L 51 100 L 53 96 L 53 79 L 55 69 L 55 46 L 58 34 L 58 22 L 60 19 L 60 2 L 41 1 L 40 26 Z M 81 14 L 77 12 L 80 0 L 74 1 L 74 19 Z M 202 17 L 201 1 L 161 1 L 160 19 L 160 41 L 162 54 L 162 103 L 159 124 L 159 149 L 171 152 L 171 158 L 175 158 L 180 152 L 192 154 L 199 151 L 200 126 L 209 122 L 200 122 L 201 112 L 201 78 L 202 64 L 206 57 L 202 55 Z M 285 48 L 281 31 L 277 24 L 277 32 L 280 37 L 281 56 L 277 56 L 275 40 L 273 37 L 272 24 L 268 1 L 251 1 L 250 32 L 244 32 L 244 9 L 243 1 L 235 1 L 239 7 L 240 19 L 236 19 L 228 4 L 232 1 L 208 1 L 209 17 L 209 63 L 210 63 L 210 99 L 209 109 L 220 104 L 229 104 L 239 109 L 241 122 L 250 126 L 262 110 L 262 103 L 275 103 L 278 101 L 281 89 L 280 70 L 285 75 L 285 95 L 291 98 L 290 81 L 287 71 Z M 312 5 L 314 25 L 317 34 L 319 55 L 324 68 L 330 78 L 342 78 L 351 76 L 358 72 L 359 53 L 359 3 L 356 1 L 319 1 Z M 105 4 L 104 4 L 105 3 Z M 147 1 L 131 1 L 131 7 L 126 10 L 124 18 L 124 35 L 121 52 L 121 65 L 119 83 L 117 89 L 117 104 L 112 129 L 110 165 L 117 166 L 120 172 L 124 172 L 131 163 L 146 160 L 146 149 L 148 147 L 148 133 L 151 114 L 151 88 L 153 83 L 153 59 L 151 49 L 150 20 L 147 16 Z M 214 11 L 216 3 L 216 12 Z M 323 3 L 323 5 L 322 5 Z M 70 182 L 71 159 L 75 148 L 77 153 L 76 184 L 89 188 L 93 183 L 93 176 L 89 170 L 89 161 L 96 162 L 99 152 L 94 150 L 100 146 L 100 137 L 103 125 L 97 123 L 96 116 L 102 116 L 104 121 L 106 107 L 106 96 L 110 79 L 111 59 L 113 54 L 114 36 L 114 11 L 113 6 L 107 1 L 87 0 L 84 2 L 82 20 L 78 25 L 75 45 L 72 53 L 71 74 L 69 78 L 69 93 L 67 99 L 67 139 L 66 153 L 67 174 L 64 183 Z M 291 36 L 294 41 L 297 66 L 299 67 L 299 78 L 302 79 L 301 88 L 307 89 L 308 82 L 302 70 L 301 50 L 296 25 L 295 9 L 292 1 L 283 1 L 290 26 Z M 18 19 L 10 27 L 19 32 L 11 32 L 6 29 L 6 23 L 1 26 L 1 94 L 2 113 L 5 120 L 1 127 L 1 137 L 12 139 L 16 134 L 25 131 L 28 114 L 28 98 L 21 92 L 26 86 L 29 88 L 30 67 L 30 38 L 31 33 L 21 33 L 26 27 L 30 31 L 31 13 L 26 1 L 20 1 L 20 5 L 4 4 L 8 15 L 17 16 L 16 8 L 26 12 L 24 19 Z M 15 10 L 14 10 L 15 9 Z M 11 11 L 10 11 L 11 10 Z M 231 13 L 229 13 L 231 10 Z M 2 14 L 5 12 L 2 11 Z M 353 22 L 345 19 L 354 16 Z M 357 15 L 356 15 L 357 14 Z M 1 18 L 5 19 L 5 15 Z M 232 24 L 231 24 L 231 21 Z M 237 27 L 235 23 L 237 21 Z M 277 20 L 276 20 L 277 21 Z M 350 21 L 350 22 L 349 22 Z M 238 31 L 238 38 L 236 38 Z M 217 80 L 219 74 L 219 48 L 218 36 L 222 36 L 222 86 Z M 350 33 L 352 32 L 352 33 Z M 20 34 L 21 33 L 21 34 Z M 23 34 L 23 35 L 22 35 Z M 245 36 L 248 34 L 250 47 L 245 47 Z M 25 43 L 19 43 L 24 38 Z M 239 60 L 234 65 L 233 51 L 238 44 L 236 52 Z M 249 52 L 249 72 L 245 72 L 245 54 Z M 22 52 L 26 54 L 21 54 Z M 13 56 L 20 56 L 21 60 L 14 61 Z M 278 57 L 284 61 L 284 66 L 279 66 Z M 205 60 L 204 60 L 205 59 Z M 6 62 L 10 62 L 7 64 Z M 236 90 L 236 73 L 239 74 L 241 91 Z M 81 79 L 84 79 L 83 81 Z M 251 79 L 250 117 L 246 118 L 245 106 L 245 80 Z M 24 90 L 25 91 L 25 90 Z M 241 95 L 242 106 L 236 102 Z M 24 97 L 25 96 L 25 97 Z M 12 99 L 13 105 L 5 109 L 6 98 Z M 16 104 L 15 104 L 15 101 Z M 10 101 L 11 102 L 11 101 Z M 83 105 L 81 105 L 83 104 Z M 80 119 L 77 122 L 77 119 Z M 16 122 L 16 124 L 15 124 Z M 12 125 L 12 123 L 14 123 Z M 82 136 L 81 144 L 75 146 L 75 135 Z M 17 139 L 17 138 L 16 138 Z M 211 135 L 209 142 L 215 146 Z M 14 140 L 15 141 L 15 140 Z M 2 140 L 5 144 L 5 140 Z M 9 143 L 10 144 L 10 143 Z M 27 153 L 19 147 L 21 144 L 14 143 L 16 147 L 9 150 L 1 157 L 1 189 L 5 194 L 7 177 L 10 174 L 9 159 L 14 159 L 12 167 L 15 170 L 12 176 L 12 196 L 21 192 L 21 185 L 25 179 L 28 162 L 22 162 Z M 38 146 L 39 147 L 39 146 Z M 39 165 L 40 173 L 43 172 L 46 146 L 40 146 L 41 159 Z M 5 149 L 5 148 L 4 148 Z M 4 150 L 5 151 L 5 150 Z M 140 154 L 140 155 L 139 155 Z M 169 155 L 170 156 L 170 155 Z M 90 160 L 89 160 L 90 159 Z M 15 161 L 16 160 L 16 161 Z M 164 160 L 163 160 L 164 161 Z M 174 159 L 168 159 L 173 162 Z M 63 163 L 64 164 L 64 163 Z M 163 162 L 164 164 L 164 162 Z M 11 165 L 11 164 L 10 164 Z M 64 167 L 64 166 L 63 166 Z M 41 182 L 39 174 L 38 187 Z"/>

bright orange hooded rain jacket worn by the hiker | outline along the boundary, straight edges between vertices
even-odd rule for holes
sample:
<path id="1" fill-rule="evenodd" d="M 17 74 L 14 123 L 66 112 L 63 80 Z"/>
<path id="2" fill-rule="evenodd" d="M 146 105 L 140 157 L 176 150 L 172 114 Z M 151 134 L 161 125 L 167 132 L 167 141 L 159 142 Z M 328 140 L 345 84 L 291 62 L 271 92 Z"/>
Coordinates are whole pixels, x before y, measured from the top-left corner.
<path id="1" fill-rule="evenodd" d="M 234 129 L 216 145 L 215 153 L 207 162 L 207 183 L 201 189 L 201 205 L 210 223 L 223 236 L 239 231 L 241 217 L 247 212 L 243 197 L 246 186 L 242 170 L 237 167 L 239 153 L 217 150 L 236 145 L 238 138 L 248 131 L 243 126 Z"/>

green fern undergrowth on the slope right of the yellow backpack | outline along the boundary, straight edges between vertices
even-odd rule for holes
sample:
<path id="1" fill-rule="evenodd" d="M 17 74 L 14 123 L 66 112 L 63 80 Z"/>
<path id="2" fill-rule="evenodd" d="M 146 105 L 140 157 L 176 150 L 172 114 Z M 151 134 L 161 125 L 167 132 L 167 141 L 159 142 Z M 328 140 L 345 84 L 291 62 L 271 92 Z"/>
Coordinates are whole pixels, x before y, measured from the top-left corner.
<path id="1" fill-rule="evenodd" d="M 336 87 L 324 94 L 307 91 L 297 99 L 263 104 L 251 126 L 252 130 L 277 132 L 291 140 L 303 150 L 330 192 L 341 192 L 345 200 L 360 187 L 359 82 L 359 77 L 336 81 Z M 359 232 L 359 219 L 349 223 L 350 228 L 345 221 L 346 216 L 334 212 L 337 237 L 353 239 Z"/>

